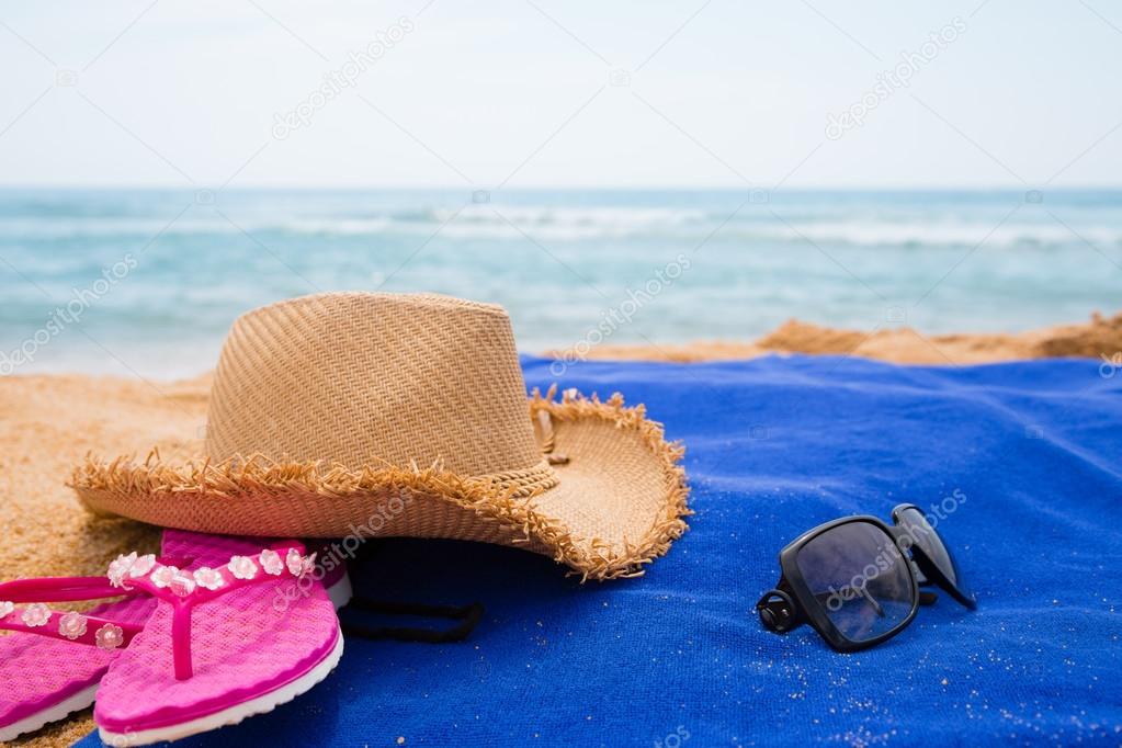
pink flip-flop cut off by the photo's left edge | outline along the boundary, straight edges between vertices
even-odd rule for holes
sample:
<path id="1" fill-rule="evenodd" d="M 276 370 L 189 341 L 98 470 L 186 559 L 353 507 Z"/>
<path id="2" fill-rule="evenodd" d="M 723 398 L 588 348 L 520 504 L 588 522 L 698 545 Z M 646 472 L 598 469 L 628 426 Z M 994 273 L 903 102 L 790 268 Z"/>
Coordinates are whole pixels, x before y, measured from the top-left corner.
<path id="1" fill-rule="evenodd" d="M 163 557 L 186 558 L 183 534 L 164 535 Z M 104 576 L 16 580 L 0 584 L 0 742 L 33 732 L 93 703 L 98 683 L 123 646 L 139 631 L 156 601 L 139 590 L 85 615 L 55 612 L 48 602 L 120 598 Z M 28 603 L 17 608 L 16 603 Z M 110 628 L 105 628 L 109 626 Z M 103 631 L 99 635 L 99 631 Z M 92 646 L 79 646 L 85 644 Z"/>

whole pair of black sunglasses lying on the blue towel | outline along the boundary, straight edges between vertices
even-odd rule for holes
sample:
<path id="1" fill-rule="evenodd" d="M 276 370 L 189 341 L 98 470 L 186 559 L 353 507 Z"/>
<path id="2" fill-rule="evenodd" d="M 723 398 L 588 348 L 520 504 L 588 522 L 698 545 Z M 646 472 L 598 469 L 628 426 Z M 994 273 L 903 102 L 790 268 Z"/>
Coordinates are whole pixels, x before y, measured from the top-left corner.
<path id="1" fill-rule="evenodd" d="M 845 517 L 803 533 L 779 554 L 782 575 L 756 603 L 764 627 L 785 634 L 807 622 L 838 652 L 900 634 L 937 584 L 974 610 L 977 603 L 935 527 L 914 504 L 876 517 Z"/>

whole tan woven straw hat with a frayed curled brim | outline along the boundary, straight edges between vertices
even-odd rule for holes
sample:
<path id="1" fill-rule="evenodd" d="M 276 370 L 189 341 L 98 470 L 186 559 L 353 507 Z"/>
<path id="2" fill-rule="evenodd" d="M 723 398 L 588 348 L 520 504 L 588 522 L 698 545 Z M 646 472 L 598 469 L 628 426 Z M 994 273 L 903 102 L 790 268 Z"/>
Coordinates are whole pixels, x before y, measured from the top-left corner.
<path id="1" fill-rule="evenodd" d="M 88 458 L 86 507 L 205 533 L 444 537 L 552 556 L 583 579 L 641 573 L 686 530 L 682 447 L 643 406 L 528 399 L 500 306 L 318 294 L 230 330 L 205 455 Z"/>

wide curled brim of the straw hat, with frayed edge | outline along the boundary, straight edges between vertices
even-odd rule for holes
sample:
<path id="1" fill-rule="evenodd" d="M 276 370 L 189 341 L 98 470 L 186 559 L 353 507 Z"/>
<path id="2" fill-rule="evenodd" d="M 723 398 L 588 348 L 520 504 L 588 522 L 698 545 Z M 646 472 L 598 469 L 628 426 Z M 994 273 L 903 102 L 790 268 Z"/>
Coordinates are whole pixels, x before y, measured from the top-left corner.
<path id="1" fill-rule="evenodd" d="M 552 488 L 519 496 L 494 477 L 430 468 L 276 462 L 260 455 L 138 463 L 88 458 L 70 486 L 99 514 L 202 533 L 282 537 L 440 537 L 523 547 L 582 580 L 642 573 L 687 529 L 683 447 L 643 406 L 537 391 L 550 415 Z"/>

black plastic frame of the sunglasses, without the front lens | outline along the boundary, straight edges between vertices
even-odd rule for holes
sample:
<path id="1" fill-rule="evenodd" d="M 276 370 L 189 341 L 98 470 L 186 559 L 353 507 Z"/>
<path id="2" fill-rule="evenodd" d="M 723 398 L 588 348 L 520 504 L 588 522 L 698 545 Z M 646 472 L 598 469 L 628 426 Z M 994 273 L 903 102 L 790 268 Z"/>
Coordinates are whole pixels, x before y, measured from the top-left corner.
<path id="1" fill-rule="evenodd" d="M 764 593 L 764 597 L 756 603 L 756 612 L 760 615 L 760 619 L 763 621 L 764 626 L 772 631 L 785 634 L 787 631 L 797 628 L 799 625 L 807 622 L 810 624 L 811 628 L 818 631 L 824 639 L 826 639 L 827 644 L 838 652 L 857 652 L 876 646 L 882 641 L 891 639 L 896 634 L 900 634 L 900 631 L 905 629 L 908 625 L 912 622 L 912 619 L 916 618 L 916 612 L 919 610 L 921 604 L 930 604 L 931 602 L 935 602 L 935 595 L 932 593 L 920 591 L 919 588 L 921 583 L 935 583 L 946 590 L 953 598 L 955 598 L 955 600 L 966 608 L 969 608 L 971 610 L 976 608 L 977 603 L 975 603 L 974 599 L 951 582 L 946 574 L 939 571 L 939 567 L 923 552 L 918 543 L 910 542 L 907 545 L 902 544 L 904 538 L 911 537 L 908 528 L 900 526 L 900 517 L 905 509 L 916 509 L 920 511 L 920 514 L 923 512 L 923 510 L 914 504 L 901 504 L 892 509 L 892 521 L 895 523 L 894 525 L 888 525 L 880 518 L 873 517 L 872 515 L 855 515 L 819 525 L 791 541 L 782 551 L 780 551 L 779 554 L 780 571 L 782 573 L 779 584 L 775 585 L 775 589 L 769 590 Z M 810 590 L 810 585 L 807 584 L 806 578 L 797 563 L 799 553 L 812 539 L 836 527 L 852 523 L 866 523 L 873 525 L 884 533 L 890 541 L 892 541 L 908 570 L 908 579 L 911 582 L 912 590 L 911 610 L 908 611 L 908 615 L 903 618 L 903 620 L 883 634 L 879 634 L 868 639 L 859 640 L 850 639 L 838 630 L 838 628 L 834 625 L 834 621 L 830 620 L 821 602 Z M 938 533 L 934 527 L 931 528 L 931 532 L 935 532 L 936 536 L 938 536 Z M 942 543 L 941 537 L 939 537 L 939 542 Z M 944 544 L 944 547 L 946 547 L 946 544 Z M 910 555 L 909 551 L 911 552 Z M 949 551 L 947 551 L 947 556 L 954 567 L 955 579 L 959 579 L 960 574 L 958 573 L 958 566 Z M 917 574 L 920 575 L 920 579 L 917 579 Z"/>

